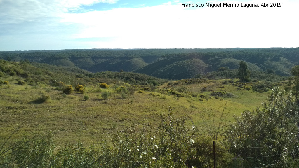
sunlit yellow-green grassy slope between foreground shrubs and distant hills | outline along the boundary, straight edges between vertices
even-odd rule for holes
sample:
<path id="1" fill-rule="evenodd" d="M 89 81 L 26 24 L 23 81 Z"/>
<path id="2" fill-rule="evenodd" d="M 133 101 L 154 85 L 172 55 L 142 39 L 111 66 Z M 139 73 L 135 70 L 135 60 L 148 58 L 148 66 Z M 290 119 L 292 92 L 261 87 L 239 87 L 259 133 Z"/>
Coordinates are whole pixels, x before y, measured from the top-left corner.
<path id="1" fill-rule="evenodd" d="M 112 95 L 108 100 L 102 100 L 100 94 L 92 92 L 91 86 L 87 86 L 86 94 L 89 100 L 83 100 L 83 94 L 75 92 L 64 96 L 62 91 L 54 90 L 47 85 L 30 86 L 17 85 L 18 77 L 6 76 L 2 80 L 9 80 L 9 87 L 1 85 L 0 93 L 0 136 L 4 137 L 8 132 L 16 129 L 25 122 L 19 135 L 32 135 L 36 133 L 57 132 L 55 140 L 58 144 L 64 144 L 80 140 L 84 143 L 96 143 L 97 140 L 110 139 L 115 128 L 123 130 L 131 124 L 146 122 L 158 123 L 160 114 L 166 114 L 168 106 L 173 107 L 173 112 L 178 115 L 188 115 L 196 126 L 202 127 L 202 119 L 209 112 L 216 112 L 217 117 L 228 101 L 227 108 L 231 109 L 227 118 L 233 122 L 234 115 L 240 115 L 243 110 L 251 110 L 260 106 L 261 101 L 266 100 L 268 93 L 238 90 L 237 86 L 224 85 L 221 81 L 208 81 L 207 83 L 192 83 L 189 85 L 179 82 L 176 86 L 186 86 L 188 91 L 200 93 L 204 86 L 209 89 L 205 94 L 213 91 L 226 90 L 237 95 L 239 98 L 223 98 L 223 100 L 211 99 L 199 101 L 198 97 L 180 97 L 163 95 L 158 92 L 144 93 L 135 92 L 126 99 L 121 99 L 120 94 L 115 92 L 113 85 L 102 91 L 110 91 Z M 160 88 L 166 88 L 167 84 Z M 49 95 L 51 100 L 45 103 L 36 103 L 42 94 Z M 159 95 L 159 96 L 158 96 Z M 245 96 L 246 95 L 246 96 Z M 165 99 L 162 97 L 165 96 Z M 189 122 L 190 123 L 190 122 Z M 190 123 L 191 125 L 191 123 Z"/>

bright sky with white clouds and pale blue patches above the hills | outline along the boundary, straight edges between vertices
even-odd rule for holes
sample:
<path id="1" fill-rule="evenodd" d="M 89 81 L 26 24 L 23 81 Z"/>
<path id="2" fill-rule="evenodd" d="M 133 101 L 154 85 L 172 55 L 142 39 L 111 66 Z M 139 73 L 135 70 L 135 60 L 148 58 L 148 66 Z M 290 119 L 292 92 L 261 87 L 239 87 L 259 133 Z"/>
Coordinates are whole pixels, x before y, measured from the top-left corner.
<path id="1" fill-rule="evenodd" d="M 0 51 L 299 47 L 299 1 L 275 1 L 281 7 L 270 7 L 271 2 L 0 0 Z"/>

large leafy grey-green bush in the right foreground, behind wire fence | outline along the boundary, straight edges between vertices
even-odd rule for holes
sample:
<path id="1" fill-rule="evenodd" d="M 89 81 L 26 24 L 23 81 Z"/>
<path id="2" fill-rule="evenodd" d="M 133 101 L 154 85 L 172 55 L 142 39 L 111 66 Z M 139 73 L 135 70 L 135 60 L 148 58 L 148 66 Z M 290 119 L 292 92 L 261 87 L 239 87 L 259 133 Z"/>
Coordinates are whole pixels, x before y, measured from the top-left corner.
<path id="1" fill-rule="evenodd" d="M 289 167 L 298 156 L 298 106 L 291 94 L 274 88 L 262 109 L 244 111 L 230 124 L 225 137 L 230 151 L 243 160 L 243 167 Z"/>

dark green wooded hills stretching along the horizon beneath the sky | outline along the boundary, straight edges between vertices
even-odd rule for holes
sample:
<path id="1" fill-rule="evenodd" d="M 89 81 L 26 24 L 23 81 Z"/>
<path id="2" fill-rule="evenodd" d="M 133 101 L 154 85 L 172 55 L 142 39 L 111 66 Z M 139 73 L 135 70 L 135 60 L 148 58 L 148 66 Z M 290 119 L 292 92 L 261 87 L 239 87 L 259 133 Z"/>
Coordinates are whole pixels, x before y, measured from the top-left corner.
<path id="1" fill-rule="evenodd" d="M 274 72 L 277 75 L 289 76 L 291 68 L 299 65 L 299 48 L 8 51 L 0 52 L 0 59 L 29 60 L 81 68 L 93 73 L 134 71 L 173 80 L 207 75 L 218 71 L 220 67 L 234 70 L 243 60 L 254 73 Z"/>

